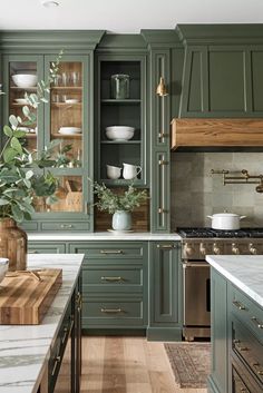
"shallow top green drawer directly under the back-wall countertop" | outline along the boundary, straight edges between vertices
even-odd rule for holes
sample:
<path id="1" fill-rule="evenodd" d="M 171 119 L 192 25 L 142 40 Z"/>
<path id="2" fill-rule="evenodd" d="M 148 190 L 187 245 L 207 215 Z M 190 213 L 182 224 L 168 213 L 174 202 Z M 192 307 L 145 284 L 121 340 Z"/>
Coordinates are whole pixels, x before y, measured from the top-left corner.
<path id="1" fill-rule="evenodd" d="M 84 245 L 70 245 L 70 252 L 85 254 L 87 261 L 101 259 L 142 259 L 147 255 L 147 243 L 138 242 L 97 242 Z"/>

